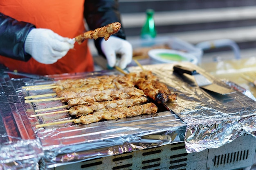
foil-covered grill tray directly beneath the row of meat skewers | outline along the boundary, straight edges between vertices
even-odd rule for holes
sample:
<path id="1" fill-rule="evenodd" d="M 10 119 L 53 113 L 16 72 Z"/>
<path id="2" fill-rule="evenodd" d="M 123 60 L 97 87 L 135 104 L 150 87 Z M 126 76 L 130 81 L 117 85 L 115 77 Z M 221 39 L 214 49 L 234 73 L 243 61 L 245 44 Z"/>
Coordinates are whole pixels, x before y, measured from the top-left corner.
<path id="1" fill-rule="evenodd" d="M 52 77 L 56 79 L 81 78 L 101 74 L 120 73 L 113 70 L 108 72 L 53 75 Z M 50 83 L 52 82 L 31 80 L 25 82 L 25 85 Z M 23 90 L 22 97 L 48 93 L 53 93 L 53 90 Z M 63 105 L 65 104 L 60 100 L 29 104 L 34 110 Z M 154 115 L 102 121 L 88 125 L 63 123 L 44 128 L 35 128 L 36 124 L 72 119 L 67 112 L 29 118 L 36 136 L 40 139 L 44 152 L 44 156 L 40 160 L 40 168 L 54 168 L 98 157 L 118 155 L 128 151 L 162 146 L 174 142 L 183 142 L 186 124 L 173 112 L 166 111 L 164 106 L 160 107 L 162 107 L 159 108 L 160 112 Z M 56 109 L 54 111 L 60 110 L 65 109 Z M 52 112 L 52 110 L 37 113 L 48 112 Z M 34 112 L 27 112 L 28 117 L 34 114 Z"/>

